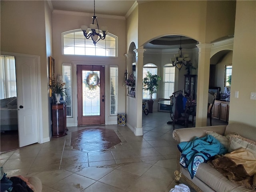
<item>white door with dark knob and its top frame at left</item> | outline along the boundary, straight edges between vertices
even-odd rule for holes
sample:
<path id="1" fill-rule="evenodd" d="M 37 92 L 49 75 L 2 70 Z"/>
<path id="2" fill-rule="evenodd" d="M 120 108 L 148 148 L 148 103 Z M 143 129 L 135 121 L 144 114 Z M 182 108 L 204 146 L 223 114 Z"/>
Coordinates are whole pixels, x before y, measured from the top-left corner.
<path id="1" fill-rule="evenodd" d="M 42 142 L 40 56 L 1 52 L 15 57 L 18 146 Z"/>

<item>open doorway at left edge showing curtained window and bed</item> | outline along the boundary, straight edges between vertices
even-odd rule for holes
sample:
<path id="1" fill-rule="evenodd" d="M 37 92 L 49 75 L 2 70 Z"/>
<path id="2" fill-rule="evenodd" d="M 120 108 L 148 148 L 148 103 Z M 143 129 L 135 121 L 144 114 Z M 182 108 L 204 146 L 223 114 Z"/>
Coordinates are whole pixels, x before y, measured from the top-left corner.
<path id="1" fill-rule="evenodd" d="M 0 152 L 19 148 L 15 57 L 0 56 Z"/>

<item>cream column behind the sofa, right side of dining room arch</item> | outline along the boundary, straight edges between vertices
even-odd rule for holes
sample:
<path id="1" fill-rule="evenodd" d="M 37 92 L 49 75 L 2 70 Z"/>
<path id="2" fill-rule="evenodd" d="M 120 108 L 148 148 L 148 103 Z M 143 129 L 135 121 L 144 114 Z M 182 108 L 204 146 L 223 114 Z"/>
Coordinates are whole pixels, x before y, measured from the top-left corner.
<path id="1" fill-rule="evenodd" d="M 196 99 L 196 127 L 207 125 L 207 105 L 212 44 L 198 44 L 198 80 Z"/>

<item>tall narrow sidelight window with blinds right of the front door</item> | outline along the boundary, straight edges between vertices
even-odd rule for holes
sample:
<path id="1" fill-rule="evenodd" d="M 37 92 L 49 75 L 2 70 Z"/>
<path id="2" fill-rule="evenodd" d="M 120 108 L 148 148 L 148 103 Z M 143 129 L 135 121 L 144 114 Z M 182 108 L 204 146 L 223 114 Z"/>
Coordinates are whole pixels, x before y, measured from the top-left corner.
<path id="1" fill-rule="evenodd" d="M 110 67 L 110 115 L 117 115 L 118 111 L 118 68 Z"/>

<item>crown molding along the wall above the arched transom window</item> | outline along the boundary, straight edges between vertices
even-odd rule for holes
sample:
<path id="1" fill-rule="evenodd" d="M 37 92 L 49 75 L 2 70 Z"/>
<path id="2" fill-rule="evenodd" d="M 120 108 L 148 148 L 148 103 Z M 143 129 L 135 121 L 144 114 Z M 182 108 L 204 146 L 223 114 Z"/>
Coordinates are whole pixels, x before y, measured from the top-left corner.
<path id="1" fill-rule="evenodd" d="M 83 12 L 74 12 L 74 11 L 63 11 L 63 10 L 53 10 L 54 14 L 64 14 L 64 15 L 75 15 L 75 16 L 89 16 L 91 17 L 93 13 L 83 13 Z M 117 15 L 105 15 L 105 14 L 97 14 L 97 17 L 108 18 L 108 19 L 120 19 L 125 20 L 124 16 Z"/>

